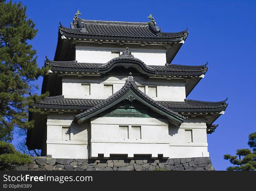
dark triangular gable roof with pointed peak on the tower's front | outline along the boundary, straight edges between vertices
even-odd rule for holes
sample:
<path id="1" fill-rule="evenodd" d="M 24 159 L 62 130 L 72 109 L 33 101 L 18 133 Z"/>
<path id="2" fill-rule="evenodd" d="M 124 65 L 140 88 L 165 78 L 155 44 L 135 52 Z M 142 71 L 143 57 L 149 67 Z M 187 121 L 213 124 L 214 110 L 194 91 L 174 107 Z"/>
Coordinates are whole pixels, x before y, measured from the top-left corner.
<path id="1" fill-rule="evenodd" d="M 129 101 L 138 99 L 142 101 L 145 105 L 151 107 L 153 110 L 156 110 L 162 115 L 165 115 L 175 125 L 182 123 L 186 119 L 182 115 L 179 115 L 178 113 L 173 112 L 172 110 L 164 107 L 160 103 L 154 101 L 141 90 L 139 90 L 132 76 L 129 76 L 128 79 L 129 80 L 126 81 L 125 85 L 115 94 L 105 99 L 101 103 L 98 103 L 97 105 L 93 106 L 92 108 L 76 115 L 75 120 L 78 123 L 81 123 L 84 120 L 93 117 L 97 113 L 100 113 L 103 110 L 112 107 L 113 105 L 115 105 L 119 101 L 122 101 L 123 99 L 128 99 Z"/>

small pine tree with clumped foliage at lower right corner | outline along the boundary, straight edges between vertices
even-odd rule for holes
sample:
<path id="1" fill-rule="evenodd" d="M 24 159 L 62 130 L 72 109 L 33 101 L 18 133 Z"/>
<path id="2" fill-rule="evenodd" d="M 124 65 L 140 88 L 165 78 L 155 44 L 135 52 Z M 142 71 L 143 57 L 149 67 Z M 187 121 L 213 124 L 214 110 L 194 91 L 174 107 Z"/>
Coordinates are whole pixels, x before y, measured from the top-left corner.
<path id="1" fill-rule="evenodd" d="M 255 170 L 256 169 L 256 132 L 249 135 L 248 141 L 251 149 L 237 149 L 237 156 L 225 154 L 224 159 L 229 160 L 231 164 L 236 165 L 227 167 L 227 170 Z M 238 158 L 237 158 L 238 157 Z"/>

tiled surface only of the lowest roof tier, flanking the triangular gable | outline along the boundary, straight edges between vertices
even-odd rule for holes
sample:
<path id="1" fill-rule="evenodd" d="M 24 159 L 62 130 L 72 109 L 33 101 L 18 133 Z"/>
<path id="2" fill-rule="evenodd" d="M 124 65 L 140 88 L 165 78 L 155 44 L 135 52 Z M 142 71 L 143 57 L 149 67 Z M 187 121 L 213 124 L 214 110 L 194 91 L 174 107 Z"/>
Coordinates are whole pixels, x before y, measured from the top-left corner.
<path id="1" fill-rule="evenodd" d="M 93 107 L 96 104 L 101 103 L 104 99 L 76 99 L 76 98 L 64 98 L 61 96 L 48 97 L 44 100 L 38 101 L 38 104 L 49 105 L 49 106 L 79 106 L 79 107 Z M 161 105 L 169 108 L 171 110 L 181 110 L 181 111 L 195 111 L 195 110 L 205 110 L 212 111 L 217 109 L 223 111 L 227 108 L 227 103 L 225 101 L 210 102 L 210 101 L 197 101 L 191 99 L 185 99 L 184 101 L 156 101 Z M 68 108 L 68 107 L 67 107 Z"/>

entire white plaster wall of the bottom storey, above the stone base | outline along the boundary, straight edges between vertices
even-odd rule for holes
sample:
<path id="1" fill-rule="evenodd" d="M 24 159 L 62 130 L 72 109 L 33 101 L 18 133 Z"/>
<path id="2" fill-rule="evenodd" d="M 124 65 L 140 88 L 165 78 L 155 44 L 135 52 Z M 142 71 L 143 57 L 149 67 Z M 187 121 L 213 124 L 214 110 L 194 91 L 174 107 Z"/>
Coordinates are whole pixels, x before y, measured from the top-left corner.
<path id="1" fill-rule="evenodd" d="M 166 119 L 137 117 L 92 118 L 91 125 L 73 122 L 75 113 L 48 114 L 47 154 L 53 158 L 96 158 L 98 154 L 151 154 L 165 158 L 209 156 L 206 123 L 203 117 L 189 117 L 180 126 Z M 119 125 L 141 126 L 141 139 L 120 137 Z M 62 127 L 71 127 L 70 140 L 62 140 Z M 91 127 L 90 127 L 91 126 Z M 73 130 L 72 130 L 73 128 Z M 185 142 L 185 129 L 192 130 L 193 142 Z"/>

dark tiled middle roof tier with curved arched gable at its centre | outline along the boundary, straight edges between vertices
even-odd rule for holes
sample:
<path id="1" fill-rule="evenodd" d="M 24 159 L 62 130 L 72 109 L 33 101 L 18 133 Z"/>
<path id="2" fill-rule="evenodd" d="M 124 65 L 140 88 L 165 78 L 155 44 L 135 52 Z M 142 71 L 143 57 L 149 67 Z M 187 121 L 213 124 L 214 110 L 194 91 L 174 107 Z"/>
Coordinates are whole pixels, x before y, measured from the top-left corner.
<path id="1" fill-rule="evenodd" d="M 45 65 L 50 65 L 54 70 L 74 70 L 83 72 L 105 73 L 115 66 L 137 67 L 141 72 L 147 75 L 202 75 L 207 72 L 208 67 L 205 65 L 188 66 L 166 64 L 165 66 L 146 65 L 143 61 L 133 57 L 117 57 L 107 63 L 78 63 L 75 61 L 52 61 L 45 60 Z"/>

